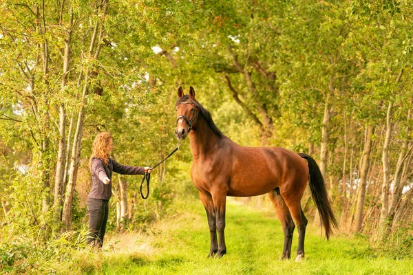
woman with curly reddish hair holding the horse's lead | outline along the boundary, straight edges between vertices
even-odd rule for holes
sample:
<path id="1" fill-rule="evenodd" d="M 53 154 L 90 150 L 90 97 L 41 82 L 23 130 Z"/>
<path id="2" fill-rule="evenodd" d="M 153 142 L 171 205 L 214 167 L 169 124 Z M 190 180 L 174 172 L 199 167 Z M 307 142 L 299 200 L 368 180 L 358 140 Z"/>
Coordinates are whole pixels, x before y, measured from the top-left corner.
<path id="1" fill-rule="evenodd" d="M 89 212 L 89 236 L 87 243 L 102 248 L 106 232 L 109 199 L 112 196 L 112 172 L 123 175 L 144 175 L 151 173 L 151 167 L 125 166 L 118 164 L 109 154 L 114 148 L 112 136 L 107 133 L 96 135 L 92 156 L 90 157 L 90 173 L 92 174 L 92 189 L 87 197 Z"/>

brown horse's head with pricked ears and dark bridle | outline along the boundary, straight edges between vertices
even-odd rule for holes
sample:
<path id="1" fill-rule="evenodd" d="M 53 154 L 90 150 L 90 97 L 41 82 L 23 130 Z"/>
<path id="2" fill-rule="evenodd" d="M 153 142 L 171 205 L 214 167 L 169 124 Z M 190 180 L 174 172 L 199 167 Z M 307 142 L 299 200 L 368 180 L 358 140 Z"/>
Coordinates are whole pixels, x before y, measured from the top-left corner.
<path id="1" fill-rule="evenodd" d="M 198 104 L 195 102 L 195 90 L 189 88 L 189 95 L 184 95 L 182 87 L 178 89 L 178 101 L 176 102 L 176 129 L 175 135 L 184 140 L 193 129 L 198 118 Z"/>

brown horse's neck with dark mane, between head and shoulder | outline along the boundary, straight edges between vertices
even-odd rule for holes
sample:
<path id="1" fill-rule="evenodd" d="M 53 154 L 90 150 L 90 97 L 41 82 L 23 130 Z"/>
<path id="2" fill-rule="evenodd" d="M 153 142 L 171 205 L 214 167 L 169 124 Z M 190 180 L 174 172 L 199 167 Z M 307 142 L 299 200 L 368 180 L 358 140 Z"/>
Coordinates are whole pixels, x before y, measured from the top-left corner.
<path id="1" fill-rule="evenodd" d="M 207 153 L 211 153 L 215 144 L 220 140 L 220 137 L 213 133 L 212 129 L 203 118 L 200 117 L 196 124 L 195 131 L 189 133 L 191 152 L 194 159 L 198 159 Z"/>

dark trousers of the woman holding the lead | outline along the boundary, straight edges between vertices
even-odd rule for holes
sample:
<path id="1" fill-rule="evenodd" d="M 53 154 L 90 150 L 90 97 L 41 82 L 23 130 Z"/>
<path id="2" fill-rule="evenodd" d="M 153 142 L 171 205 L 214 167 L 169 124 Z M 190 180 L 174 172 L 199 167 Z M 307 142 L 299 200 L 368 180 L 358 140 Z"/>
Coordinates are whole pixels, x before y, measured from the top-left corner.
<path id="1" fill-rule="evenodd" d="M 109 213 L 109 199 L 87 198 L 89 212 L 89 235 L 87 244 L 102 248 L 103 237 L 106 232 L 107 214 Z"/>

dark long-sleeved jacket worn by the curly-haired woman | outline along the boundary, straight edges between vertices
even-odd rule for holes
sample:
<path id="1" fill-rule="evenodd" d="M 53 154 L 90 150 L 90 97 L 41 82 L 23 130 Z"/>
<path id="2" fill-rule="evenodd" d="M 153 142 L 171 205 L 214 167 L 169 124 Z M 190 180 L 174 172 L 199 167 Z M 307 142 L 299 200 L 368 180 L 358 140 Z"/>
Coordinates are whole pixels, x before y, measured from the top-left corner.
<path id="1" fill-rule="evenodd" d="M 123 175 L 144 175 L 145 168 L 118 164 L 118 162 L 110 158 L 106 166 L 103 159 L 93 157 L 92 165 L 90 166 L 90 173 L 92 174 L 92 189 L 89 192 L 90 198 L 110 199 L 112 196 L 112 172 Z M 103 184 L 105 177 L 111 180 L 109 184 Z"/>

